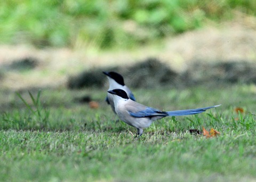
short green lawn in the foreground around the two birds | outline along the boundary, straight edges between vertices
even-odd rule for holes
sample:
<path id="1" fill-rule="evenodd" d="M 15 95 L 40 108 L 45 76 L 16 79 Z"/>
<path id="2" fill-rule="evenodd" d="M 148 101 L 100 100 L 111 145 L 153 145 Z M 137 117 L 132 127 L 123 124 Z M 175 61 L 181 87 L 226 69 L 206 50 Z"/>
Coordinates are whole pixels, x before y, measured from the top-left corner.
<path id="1" fill-rule="evenodd" d="M 255 92 L 255 85 L 243 84 L 134 90 L 139 102 L 164 110 L 222 104 L 203 114 L 157 120 L 139 140 L 135 128 L 116 122 L 103 101 L 105 90 L 3 92 L 0 180 L 254 181 Z M 74 99 L 84 95 L 99 108 Z M 245 111 L 237 114 L 236 107 Z M 202 126 L 221 135 L 189 133 Z"/>

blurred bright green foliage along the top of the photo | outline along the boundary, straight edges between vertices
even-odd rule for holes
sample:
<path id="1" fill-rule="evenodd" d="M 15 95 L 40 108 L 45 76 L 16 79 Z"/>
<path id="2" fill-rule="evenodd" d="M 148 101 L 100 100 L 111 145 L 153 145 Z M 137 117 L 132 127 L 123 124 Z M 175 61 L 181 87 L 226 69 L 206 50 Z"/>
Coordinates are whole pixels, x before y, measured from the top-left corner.
<path id="1" fill-rule="evenodd" d="M 132 47 L 230 19 L 255 15 L 253 0 L 1 1 L 2 43 L 37 47 Z"/>

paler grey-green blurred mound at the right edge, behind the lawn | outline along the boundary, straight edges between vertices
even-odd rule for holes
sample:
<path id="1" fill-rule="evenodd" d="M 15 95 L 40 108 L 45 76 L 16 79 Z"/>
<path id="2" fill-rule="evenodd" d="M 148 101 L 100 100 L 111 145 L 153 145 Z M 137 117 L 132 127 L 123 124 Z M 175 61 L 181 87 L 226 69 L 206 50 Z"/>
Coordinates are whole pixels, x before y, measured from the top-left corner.
<path id="1" fill-rule="evenodd" d="M 256 65 L 247 61 L 205 63 L 195 62 L 180 75 L 185 85 L 256 83 Z"/>

